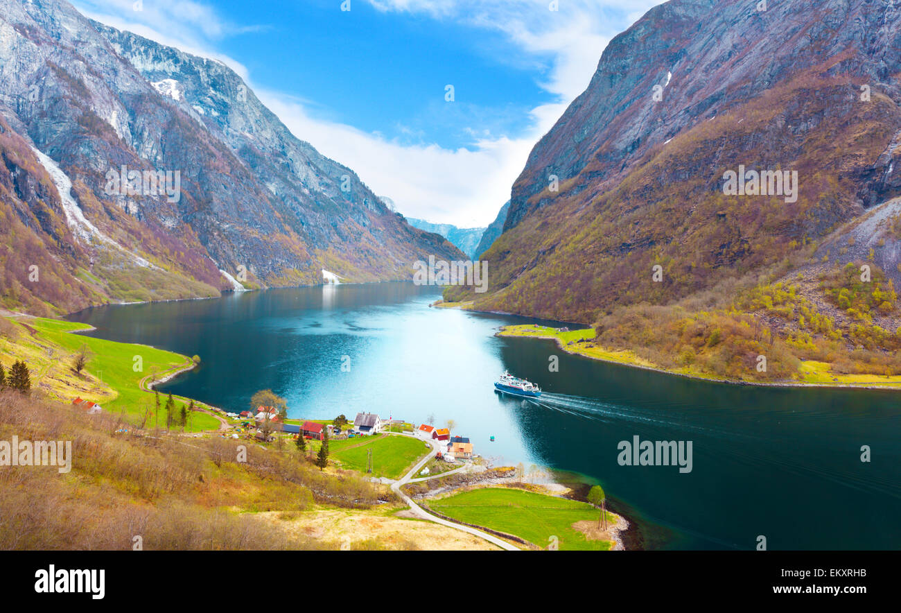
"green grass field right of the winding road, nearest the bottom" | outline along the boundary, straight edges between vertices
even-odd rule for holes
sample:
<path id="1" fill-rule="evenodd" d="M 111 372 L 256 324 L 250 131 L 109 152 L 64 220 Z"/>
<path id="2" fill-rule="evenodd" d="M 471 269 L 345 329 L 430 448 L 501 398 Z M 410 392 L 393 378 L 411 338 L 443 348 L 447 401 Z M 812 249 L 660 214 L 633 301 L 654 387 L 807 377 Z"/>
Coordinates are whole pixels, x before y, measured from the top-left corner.
<path id="1" fill-rule="evenodd" d="M 551 536 L 561 550 L 607 550 L 609 541 L 589 541 L 572 525 L 597 521 L 599 511 L 587 502 L 536 494 L 523 489 L 470 489 L 429 502 L 442 515 L 467 524 L 516 535 L 545 548 Z M 611 520 L 612 516 L 609 517 Z"/>

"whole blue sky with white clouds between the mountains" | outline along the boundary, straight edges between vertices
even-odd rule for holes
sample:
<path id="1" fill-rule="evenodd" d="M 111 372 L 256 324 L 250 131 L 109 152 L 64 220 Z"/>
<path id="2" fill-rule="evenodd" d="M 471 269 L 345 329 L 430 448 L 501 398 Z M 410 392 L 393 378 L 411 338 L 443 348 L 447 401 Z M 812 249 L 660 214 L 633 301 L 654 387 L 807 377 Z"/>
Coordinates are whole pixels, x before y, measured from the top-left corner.
<path id="1" fill-rule="evenodd" d="M 460 226 L 494 219 L 606 43 L 657 4 L 350 0 L 341 11 L 341 0 L 138 1 L 73 4 L 222 59 L 298 138 L 401 213 Z"/>

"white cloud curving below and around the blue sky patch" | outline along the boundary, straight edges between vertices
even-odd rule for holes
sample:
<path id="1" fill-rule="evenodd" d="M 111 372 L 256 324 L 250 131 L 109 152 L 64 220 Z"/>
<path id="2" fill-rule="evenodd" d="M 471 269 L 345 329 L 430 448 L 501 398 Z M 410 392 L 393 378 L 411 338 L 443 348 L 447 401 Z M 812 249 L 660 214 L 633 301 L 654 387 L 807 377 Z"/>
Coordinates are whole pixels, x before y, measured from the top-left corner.
<path id="1" fill-rule="evenodd" d="M 145 2 L 144 11 L 139 13 L 132 11 L 132 0 L 77 0 L 77 6 L 91 11 L 97 21 L 223 60 L 248 81 L 260 100 L 298 138 L 355 170 L 376 194 L 392 198 L 401 213 L 435 223 L 474 226 L 494 220 L 510 197 L 510 188 L 532 146 L 587 87 L 607 42 L 634 18 L 659 4 L 657 0 L 559 0 L 559 11 L 552 12 L 548 10 L 550 0 L 368 1 L 383 12 L 422 14 L 494 32 L 514 43 L 524 58 L 550 58 L 548 77 L 539 85 L 555 101 L 532 109 L 531 127 L 515 138 L 478 140 L 474 136 L 476 140 L 469 148 L 457 150 L 402 144 L 380 133 L 365 133 L 314 116 L 311 107 L 296 97 L 307 92 L 289 94 L 253 87 L 251 76 L 239 62 L 214 50 L 215 39 L 241 28 L 223 22 L 205 5 L 153 0 Z M 616 12 L 613 17 L 611 11 Z M 478 126 L 472 127 L 472 133 L 478 134 Z"/>

